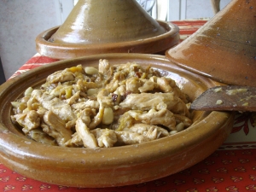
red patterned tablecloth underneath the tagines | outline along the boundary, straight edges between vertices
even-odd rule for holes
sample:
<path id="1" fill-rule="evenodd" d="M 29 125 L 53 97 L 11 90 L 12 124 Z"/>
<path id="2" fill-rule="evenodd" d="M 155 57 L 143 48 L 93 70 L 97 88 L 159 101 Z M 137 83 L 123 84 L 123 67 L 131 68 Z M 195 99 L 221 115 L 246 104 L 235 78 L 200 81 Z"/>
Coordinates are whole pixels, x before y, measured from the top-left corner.
<path id="1" fill-rule="evenodd" d="M 172 21 L 180 27 L 181 41 L 196 32 L 207 20 Z M 55 59 L 36 54 L 11 77 L 49 64 Z M 9 170 L 0 164 L 2 191 L 63 192 L 238 192 L 256 191 L 256 114 L 236 113 L 230 137 L 213 154 L 195 166 L 147 183 L 105 189 L 79 189 L 42 183 Z"/>

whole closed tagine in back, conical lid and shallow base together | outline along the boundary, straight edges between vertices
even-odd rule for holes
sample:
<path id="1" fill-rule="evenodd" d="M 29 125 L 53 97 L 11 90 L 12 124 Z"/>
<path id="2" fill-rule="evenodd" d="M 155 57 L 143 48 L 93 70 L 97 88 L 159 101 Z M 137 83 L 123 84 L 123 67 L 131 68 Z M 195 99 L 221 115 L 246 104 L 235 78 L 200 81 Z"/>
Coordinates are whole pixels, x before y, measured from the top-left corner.
<path id="1" fill-rule="evenodd" d="M 101 53 L 159 53 L 179 43 L 176 25 L 154 20 L 136 0 L 80 0 L 67 20 L 36 38 L 56 59 Z"/>

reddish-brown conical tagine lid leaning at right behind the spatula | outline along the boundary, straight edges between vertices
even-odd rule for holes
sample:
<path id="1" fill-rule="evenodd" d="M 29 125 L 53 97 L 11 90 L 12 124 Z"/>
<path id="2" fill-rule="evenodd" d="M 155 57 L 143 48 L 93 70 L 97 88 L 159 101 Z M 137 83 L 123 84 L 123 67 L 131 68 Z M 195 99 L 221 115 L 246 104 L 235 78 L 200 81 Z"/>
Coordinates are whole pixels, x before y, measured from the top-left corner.
<path id="1" fill-rule="evenodd" d="M 166 56 L 224 84 L 256 86 L 256 1 L 232 0 Z"/>

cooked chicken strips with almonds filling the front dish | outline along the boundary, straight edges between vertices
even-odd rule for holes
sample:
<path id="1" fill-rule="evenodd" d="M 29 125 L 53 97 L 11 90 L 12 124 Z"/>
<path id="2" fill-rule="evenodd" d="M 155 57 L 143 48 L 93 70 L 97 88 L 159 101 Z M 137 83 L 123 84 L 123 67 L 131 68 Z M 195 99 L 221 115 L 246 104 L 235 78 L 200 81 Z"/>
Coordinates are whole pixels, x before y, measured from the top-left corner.
<path id="1" fill-rule="evenodd" d="M 14 124 L 38 143 L 110 148 L 168 137 L 192 124 L 171 78 L 135 62 L 69 67 L 12 102 Z"/>

